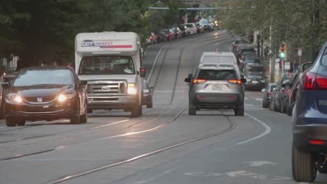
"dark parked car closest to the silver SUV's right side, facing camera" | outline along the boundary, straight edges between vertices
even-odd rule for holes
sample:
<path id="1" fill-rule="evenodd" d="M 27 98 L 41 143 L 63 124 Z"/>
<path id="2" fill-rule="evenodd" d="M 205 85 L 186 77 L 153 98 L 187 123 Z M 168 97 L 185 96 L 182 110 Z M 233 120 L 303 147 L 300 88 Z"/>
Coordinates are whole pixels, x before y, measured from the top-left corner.
<path id="1" fill-rule="evenodd" d="M 266 76 L 263 72 L 249 72 L 245 79 L 247 79 L 245 83 L 246 90 L 262 90 L 266 86 Z"/>

